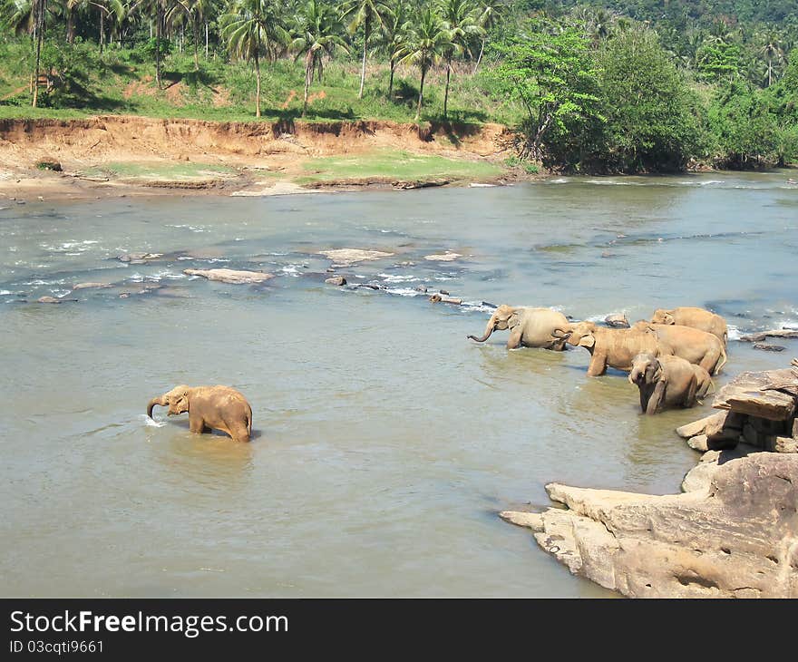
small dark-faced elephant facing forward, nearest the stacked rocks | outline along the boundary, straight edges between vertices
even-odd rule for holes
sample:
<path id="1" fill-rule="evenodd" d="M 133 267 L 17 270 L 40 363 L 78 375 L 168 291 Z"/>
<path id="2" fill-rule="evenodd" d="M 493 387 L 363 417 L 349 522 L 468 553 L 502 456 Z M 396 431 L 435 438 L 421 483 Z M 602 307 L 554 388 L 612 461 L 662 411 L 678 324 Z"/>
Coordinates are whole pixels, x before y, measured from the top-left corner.
<path id="1" fill-rule="evenodd" d="M 679 356 L 638 354 L 628 378 L 640 390 L 640 409 L 649 415 L 667 407 L 695 406 L 715 388 L 704 368 Z"/>

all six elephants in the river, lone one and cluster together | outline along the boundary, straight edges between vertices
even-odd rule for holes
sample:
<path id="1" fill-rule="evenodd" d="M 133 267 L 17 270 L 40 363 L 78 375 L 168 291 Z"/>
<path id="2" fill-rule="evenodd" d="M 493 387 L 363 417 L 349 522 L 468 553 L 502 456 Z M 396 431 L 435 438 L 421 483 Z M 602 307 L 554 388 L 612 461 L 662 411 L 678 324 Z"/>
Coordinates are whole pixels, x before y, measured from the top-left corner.
<path id="1" fill-rule="evenodd" d="M 500 306 L 482 337 L 468 337 L 483 343 L 496 330 L 510 331 L 508 349 L 584 347 L 590 354 L 588 375 L 604 375 L 608 367 L 628 372 L 629 382 L 640 391 L 645 414 L 694 406 L 709 393 L 711 375 L 720 372 L 726 362 L 725 320 L 702 308 L 657 310 L 650 321 L 608 328 L 593 322 L 570 322 L 550 308 Z M 148 416 L 156 405 L 169 407 L 170 416 L 188 413 L 192 433 L 214 429 L 238 442 L 248 442 L 252 434 L 252 407 L 229 386 L 176 386 L 151 399 Z"/>

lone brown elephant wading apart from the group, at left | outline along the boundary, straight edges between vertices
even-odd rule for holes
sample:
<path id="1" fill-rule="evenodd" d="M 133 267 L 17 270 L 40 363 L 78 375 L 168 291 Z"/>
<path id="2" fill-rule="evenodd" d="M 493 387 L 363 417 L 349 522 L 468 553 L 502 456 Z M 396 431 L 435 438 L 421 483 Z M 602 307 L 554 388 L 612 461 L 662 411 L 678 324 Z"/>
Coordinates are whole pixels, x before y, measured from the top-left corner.
<path id="1" fill-rule="evenodd" d="M 229 386 L 175 386 L 171 391 L 154 397 L 147 404 L 152 417 L 155 405 L 169 407 L 169 414 L 189 413 L 192 433 L 209 432 L 210 428 L 228 433 L 234 441 L 248 442 L 252 433 L 252 407 L 247 398 Z"/>

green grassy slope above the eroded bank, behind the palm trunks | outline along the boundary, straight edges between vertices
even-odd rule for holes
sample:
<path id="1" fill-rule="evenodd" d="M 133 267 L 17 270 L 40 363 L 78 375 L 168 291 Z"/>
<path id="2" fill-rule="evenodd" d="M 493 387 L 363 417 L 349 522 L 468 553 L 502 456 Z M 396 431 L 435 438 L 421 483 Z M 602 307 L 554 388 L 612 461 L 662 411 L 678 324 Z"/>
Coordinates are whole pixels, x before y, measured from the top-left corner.
<path id="1" fill-rule="evenodd" d="M 56 47 L 57 45 L 57 47 Z M 44 94 L 39 109 L 30 108 L 28 84 L 32 66 L 29 39 L 0 40 L 0 118 L 72 119 L 98 114 L 129 114 L 159 118 L 195 118 L 218 122 L 256 122 L 255 71 L 251 63 L 226 62 L 222 55 L 208 60 L 200 56 L 194 70 L 189 53 L 164 58 L 164 88 L 154 82 L 155 68 L 141 50 L 109 45 L 100 54 L 86 42 L 71 48 L 54 45 L 44 67 L 61 71 L 69 64 L 80 72 L 70 85 L 62 84 L 52 95 Z M 50 60 L 53 62 L 50 63 Z M 326 63 L 321 83 L 310 89 L 307 121 L 389 120 L 414 122 L 419 72 L 401 65 L 388 95 L 389 67 L 369 62 L 363 99 L 358 99 L 360 62 L 336 59 Z M 262 66 L 261 121 L 299 121 L 303 105 L 304 64 L 291 59 Z M 445 68 L 436 67 L 424 85 L 422 122 L 443 120 Z M 496 92 L 488 67 L 478 73 L 454 73 L 449 93 L 449 120 L 479 124 L 512 124 L 522 109 Z M 49 107 L 48 107 L 49 106 Z"/>

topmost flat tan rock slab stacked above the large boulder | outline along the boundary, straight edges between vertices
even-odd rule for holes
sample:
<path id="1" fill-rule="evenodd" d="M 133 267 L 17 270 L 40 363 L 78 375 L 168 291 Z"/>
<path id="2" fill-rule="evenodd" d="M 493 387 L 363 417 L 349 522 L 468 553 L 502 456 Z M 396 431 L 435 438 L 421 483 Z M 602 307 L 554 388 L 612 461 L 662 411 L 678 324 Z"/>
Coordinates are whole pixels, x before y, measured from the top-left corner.
<path id="1" fill-rule="evenodd" d="M 741 373 L 718 391 L 712 406 L 771 421 L 784 421 L 795 413 L 798 397 L 772 389 L 774 385 L 789 384 L 793 379 L 793 372 L 789 368 Z"/>

